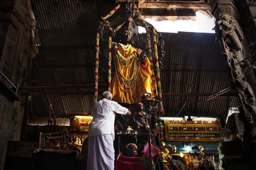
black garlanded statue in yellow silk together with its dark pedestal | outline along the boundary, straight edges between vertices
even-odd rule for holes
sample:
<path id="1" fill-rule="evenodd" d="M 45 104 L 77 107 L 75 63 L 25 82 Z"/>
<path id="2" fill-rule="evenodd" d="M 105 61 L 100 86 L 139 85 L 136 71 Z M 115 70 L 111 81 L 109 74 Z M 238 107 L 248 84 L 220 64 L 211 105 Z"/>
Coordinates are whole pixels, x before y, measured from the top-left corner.
<path id="1" fill-rule="evenodd" d="M 115 138 L 115 151 L 118 148 L 128 157 L 142 156 L 140 151 L 147 141 L 144 136 L 137 136 L 135 131 L 149 130 L 151 141 L 154 141 L 156 114 L 164 113 L 162 102 L 157 112 L 157 104 L 162 101 L 160 70 L 163 69 L 161 60 L 165 55 L 163 37 L 140 18 L 136 3 L 134 0 L 122 1 L 110 14 L 101 18 L 96 46 L 99 68 L 97 72 L 96 65 L 95 82 L 98 81 L 98 73 L 103 74 L 113 100 L 130 108 L 132 113 L 130 116 L 116 115 L 114 125 L 115 130 L 125 131 L 117 133 L 120 136 Z M 113 18 L 107 19 L 110 16 Z M 147 33 L 139 34 L 138 26 L 144 27 Z M 132 128 L 131 133 L 128 133 L 128 127 Z"/>

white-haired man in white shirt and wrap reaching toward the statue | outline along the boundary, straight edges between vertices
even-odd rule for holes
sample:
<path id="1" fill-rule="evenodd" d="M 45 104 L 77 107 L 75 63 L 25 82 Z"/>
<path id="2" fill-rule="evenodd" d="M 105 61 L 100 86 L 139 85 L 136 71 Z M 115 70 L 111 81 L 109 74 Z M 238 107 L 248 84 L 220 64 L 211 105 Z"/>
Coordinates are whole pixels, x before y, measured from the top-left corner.
<path id="1" fill-rule="evenodd" d="M 102 100 L 92 107 L 93 120 L 88 132 L 87 170 L 114 170 L 115 114 L 131 115 L 131 112 L 112 101 L 111 92 L 103 92 Z"/>

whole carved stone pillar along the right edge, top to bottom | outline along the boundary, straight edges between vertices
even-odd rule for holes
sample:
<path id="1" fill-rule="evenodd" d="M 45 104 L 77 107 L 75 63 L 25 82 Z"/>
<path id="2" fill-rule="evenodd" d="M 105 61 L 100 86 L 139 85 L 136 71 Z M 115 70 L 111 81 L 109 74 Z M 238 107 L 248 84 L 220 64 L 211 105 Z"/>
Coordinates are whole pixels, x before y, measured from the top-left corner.
<path id="1" fill-rule="evenodd" d="M 253 169 L 252 167 L 256 165 L 254 161 L 256 158 L 256 60 L 250 48 L 256 43 L 253 43 L 253 40 L 255 42 L 255 35 L 253 35 L 255 34 L 253 18 L 255 0 L 251 2 L 249 0 L 210 0 L 212 14 L 216 18 L 216 44 L 223 56 L 227 58 L 232 76 L 230 87 L 237 93 L 241 102 L 238 107 L 238 117 L 244 123 L 244 132 L 240 134 L 243 136 L 243 155 L 240 156 L 243 158 L 246 155 L 249 160 L 246 159 L 243 163 Z M 223 159 L 227 166 L 239 164 L 242 160 L 228 162 L 230 160 L 228 155 L 224 155 Z M 246 166 L 243 167 L 246 168 Z"/>

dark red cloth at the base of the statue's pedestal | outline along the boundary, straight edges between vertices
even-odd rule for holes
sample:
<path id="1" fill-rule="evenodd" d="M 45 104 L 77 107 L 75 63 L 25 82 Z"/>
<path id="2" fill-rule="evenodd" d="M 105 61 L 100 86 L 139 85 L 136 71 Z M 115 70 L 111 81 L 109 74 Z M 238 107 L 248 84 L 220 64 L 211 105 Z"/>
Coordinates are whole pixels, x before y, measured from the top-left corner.
<path id="1" fill-rule="evenodd" d="M 118 160 L 116 160 L 118 155 L 115 154 L 115 169 L 114 170 L 146 170 L 144 168 L 143 162 L 140 161 L 141 157 L 126 157 L 119 156 Z"/>

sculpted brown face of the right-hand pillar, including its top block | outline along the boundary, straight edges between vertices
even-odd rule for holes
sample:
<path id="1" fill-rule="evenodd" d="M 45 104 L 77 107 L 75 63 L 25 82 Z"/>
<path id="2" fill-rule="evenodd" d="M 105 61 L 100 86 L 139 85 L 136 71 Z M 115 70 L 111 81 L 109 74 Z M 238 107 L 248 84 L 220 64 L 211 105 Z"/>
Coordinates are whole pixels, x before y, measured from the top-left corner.
<path id="1" fill-rule="evenodd" d="M 210 1 L 213 15 L 216 16 L 216 44 L 224 57 L 227 57 L 227 64 L 232 76 L 230 85 L 232 90 L 237 92 L 241 101 L 240 115 L 246 129 L 244 140 L 251 141 L 256 136 L 254 127 L 254 124 L 256 125 L 256 79 L 254 73 L 255 60 L 249 52 L 239 13 L 239 10 L 244 11 L 242 10 L 244 4 L 241 1 L 236 4 L 233 0 Z"/>

